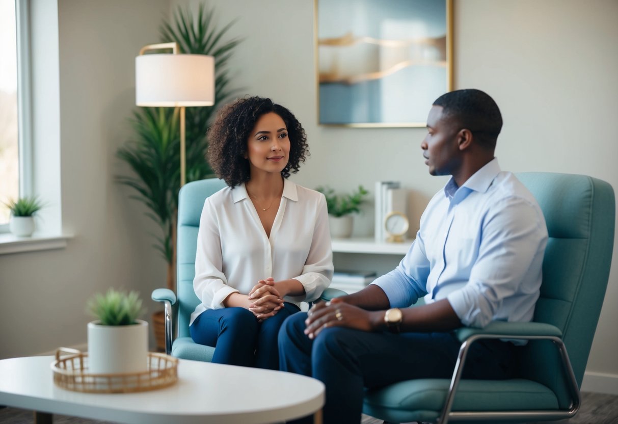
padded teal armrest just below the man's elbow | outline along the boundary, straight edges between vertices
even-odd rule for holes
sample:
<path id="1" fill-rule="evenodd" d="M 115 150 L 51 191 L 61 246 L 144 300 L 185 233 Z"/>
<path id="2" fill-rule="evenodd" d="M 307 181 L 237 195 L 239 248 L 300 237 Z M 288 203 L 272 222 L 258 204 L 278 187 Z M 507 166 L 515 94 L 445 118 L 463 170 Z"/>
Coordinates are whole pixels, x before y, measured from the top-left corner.
<path id="1" fill-rule="evenodd" d="M 562 337 L 562 331 L 556 326 L 546 323 L 507 323 L 492 321 L 485 328 L 464 327 L 455 331 L 460 342 L 472 336 L 492 336 L 500 339 L 526 339 L 536 337 Z M 497 336 L 497 337 L 496 337 Z"/>

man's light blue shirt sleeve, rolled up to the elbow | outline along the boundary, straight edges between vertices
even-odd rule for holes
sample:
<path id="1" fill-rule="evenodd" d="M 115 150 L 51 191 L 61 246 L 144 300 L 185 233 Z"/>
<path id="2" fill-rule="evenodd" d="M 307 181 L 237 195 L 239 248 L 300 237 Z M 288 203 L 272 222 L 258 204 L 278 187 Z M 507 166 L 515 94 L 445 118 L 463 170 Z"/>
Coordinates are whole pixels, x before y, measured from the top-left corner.
<path id="1" fill-rule="evenodd" d="M 469 281 L 447 295 L 462 324 L 477 328 L 501 319 L 496 313 L 505 299 L 517 302 L 517 297 L 538 296 L 540 262 L 547 242 L 542 213 L 519 197 L 505 198 L 494 205 L 482 232 Z M 539 275 L 531 278 L 530 269 L 538 269 Z M 523 313 L 531 315 L 531 311 Z"/>

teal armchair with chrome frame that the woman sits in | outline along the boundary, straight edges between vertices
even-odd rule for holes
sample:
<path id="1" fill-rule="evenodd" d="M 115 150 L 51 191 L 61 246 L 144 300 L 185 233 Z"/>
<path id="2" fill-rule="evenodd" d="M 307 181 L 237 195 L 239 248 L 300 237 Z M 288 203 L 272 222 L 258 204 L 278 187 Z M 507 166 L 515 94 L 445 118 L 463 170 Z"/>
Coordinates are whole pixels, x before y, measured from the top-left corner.
<path id="1" fill-rule="evenodd" d="M 189 320 L 200 303 L 193 291 L 193 278 L 201 210 L 206 198 L 224 187 L 226 183 L 223 180 L 212 178 L 190 182 L 180 189 L 176 237 L 177 296 L 169 289 L 156 289 L 152 293 L 152 299 L 163 302 L 165 307 L 166 354 L 177 358 L 204 362 L 210 362 L 213 358 L 214 347 L 193 342 L 189 334 Z M 326 289 L 322 299 L 328 300 L 341 294 L 344 294 L 341 290 Z M 176 323 L 175 329 L 173 323 Z"/>

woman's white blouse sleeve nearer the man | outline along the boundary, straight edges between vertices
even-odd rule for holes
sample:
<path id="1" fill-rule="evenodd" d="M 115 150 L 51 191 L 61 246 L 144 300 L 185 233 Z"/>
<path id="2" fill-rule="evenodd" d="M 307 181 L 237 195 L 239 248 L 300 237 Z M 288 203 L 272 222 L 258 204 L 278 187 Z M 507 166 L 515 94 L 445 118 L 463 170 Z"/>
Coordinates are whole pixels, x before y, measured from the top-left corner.
<path id="1" fill-rule="evenodd" d="M 328 227 L 328 209 L 326 199 L 322 195 L 318 203 L 315 229 L 311 239 L 311 247 L 307 255 L 307 261 L 303 266 L 302 274 L 293 279 L 300 281 L 305 289 L 302 296 L 290 296 L 290 299 L 300 302 L 306 300 L 313 302 L 319 299 L 324 289 L 332 280 L 334 266 L 332 265 L 331 234 Z"/>

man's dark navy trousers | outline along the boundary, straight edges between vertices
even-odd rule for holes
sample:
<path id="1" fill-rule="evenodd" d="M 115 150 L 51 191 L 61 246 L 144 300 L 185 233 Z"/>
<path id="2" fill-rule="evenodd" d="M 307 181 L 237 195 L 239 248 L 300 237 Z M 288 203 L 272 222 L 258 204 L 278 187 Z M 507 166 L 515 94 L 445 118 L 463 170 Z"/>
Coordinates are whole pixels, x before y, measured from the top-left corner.
<path id="1" fill-rule="evenodd" d="M 451 378 L 460 342 L 453 333 L 368 333 L 326 328 L 313 341 L 303 331 L 307 313 L 290 316 L 279 332 L 282 371 L 311 376 L 326 386 L 324 424 L 358 424 L 364 388 L 415 378 Z M 475 342 L 464 378 L 509 378 L 509 342 Z M 310 423 L 309 417 L 296 423 Z"/>

